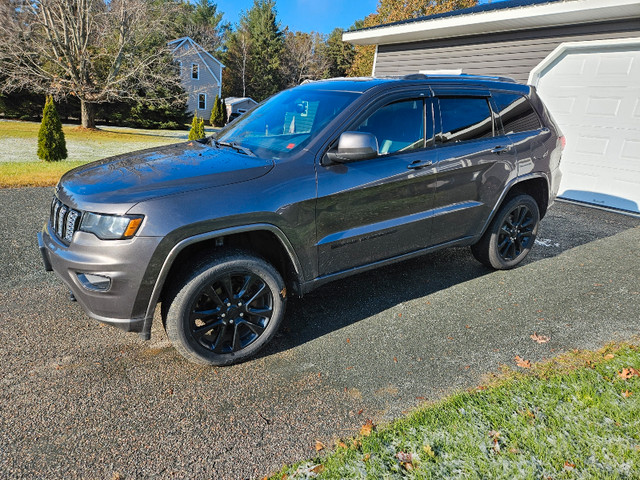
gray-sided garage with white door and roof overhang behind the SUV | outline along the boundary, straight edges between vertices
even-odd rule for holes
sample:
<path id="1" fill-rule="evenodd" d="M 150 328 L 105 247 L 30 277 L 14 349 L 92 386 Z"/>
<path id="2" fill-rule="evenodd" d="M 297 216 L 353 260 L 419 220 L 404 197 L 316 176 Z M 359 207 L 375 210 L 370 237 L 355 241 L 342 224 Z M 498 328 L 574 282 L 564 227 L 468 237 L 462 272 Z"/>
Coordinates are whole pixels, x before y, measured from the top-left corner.
<path id="1" fill-rule="evenodd" d="M 538 89 L 567 138 L 560 196 L 640 212 L 640 2 L 510 0 L 345 32 L 373 76 L 500 75 Z"/>

